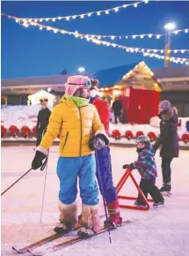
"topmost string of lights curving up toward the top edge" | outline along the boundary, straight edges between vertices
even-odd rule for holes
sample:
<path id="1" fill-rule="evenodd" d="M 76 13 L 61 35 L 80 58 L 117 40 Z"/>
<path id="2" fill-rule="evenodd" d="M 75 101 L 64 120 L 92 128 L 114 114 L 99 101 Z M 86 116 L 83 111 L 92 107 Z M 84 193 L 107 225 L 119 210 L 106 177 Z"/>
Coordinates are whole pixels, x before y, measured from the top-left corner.
<path id="1" fill-rule="evenodd" d="M 86 12 L 86 13 L 80 13 L 80 14 L 74 14 L 74 15 L 69 15 L 69 16 L 58 16 L 58 17 L 51 17 L 51 18 L 22 18 L 25 21 L 34 21 L 34 22 L 43 22 L 43 21 L 57 21 L 57 20 L 72 20 L 72 19 L 84 19 L 84 18 L 90 18 L 92 16 L 101 16 L 102 14 L 110 14 L 111 12 L 118 12 L 121 9 L 126 9 L 127 7 L 138 7 L 140 4 L 148 4 L 149 0 L 142 0 L 140 2 L 135 2 L 131 4 L 122 4 L 120 6 L 113 7 L 111 9 L 105 9 L 105 10 L 100 10 L 100 11 L 91 11 L 91 12 Z"/>

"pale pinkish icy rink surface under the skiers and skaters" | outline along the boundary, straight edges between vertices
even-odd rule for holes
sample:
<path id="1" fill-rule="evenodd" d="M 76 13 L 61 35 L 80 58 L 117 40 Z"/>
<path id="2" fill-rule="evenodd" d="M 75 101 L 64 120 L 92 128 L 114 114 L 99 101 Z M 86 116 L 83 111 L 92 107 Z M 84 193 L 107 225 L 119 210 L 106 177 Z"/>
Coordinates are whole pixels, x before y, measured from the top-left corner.
<path id="1" fill-rule="evenodd" d="M 113 180 L 117 184 L 123 175 L 123 163 L 133 162 L 136 153 L 134 148 L 111 147 L 113 160 Z M 2 147 L 2 192 L 20 177 L 33 159 L 33 147 Z M 33 170 L 2 197 L 2 255 L 15 255 L 11 245 L 25 245 L 47 230 L 51 230 L 58 220 L 56 210 L 59 181 L 56 177 L 58 147 L 50 150 L 47 168 L 45 206 L 40 224 L 40 208 L 45 172 Z M 136 219 L 112 232 L 113 244 L 109 244 L 108 235 L 82 241 L 61 251 L 46 255 L 96 256 L 188 256 L 189 255 L 189 174 L 188 151 L 180 151 L 178 159 L 172 162 L 172 196 L 165 198 L 164 208 L 150 208 L 148 212 L 121 209 L 123 220 Z M 161 159 L 156 154 L 158 169 L 157 186 L 162 184 Z M 139 175 L 134 170 L 134 177 Z M 128 181 L 121 194 L 135 196 L 136 191 Z M 101 198 L 100 198 L 101 199 Z M 81 200 L 77 198 L 81 207 Z M 129 202 L 128 202 L 129 203 Z M 133 202 L 130 202 L 133 203 Z M 104 214 L 100 200 L 100 214 Z M 48 233 L 49 234 L 49 233 Z M 52 242 L 56 244 L 58 241 Z"/>

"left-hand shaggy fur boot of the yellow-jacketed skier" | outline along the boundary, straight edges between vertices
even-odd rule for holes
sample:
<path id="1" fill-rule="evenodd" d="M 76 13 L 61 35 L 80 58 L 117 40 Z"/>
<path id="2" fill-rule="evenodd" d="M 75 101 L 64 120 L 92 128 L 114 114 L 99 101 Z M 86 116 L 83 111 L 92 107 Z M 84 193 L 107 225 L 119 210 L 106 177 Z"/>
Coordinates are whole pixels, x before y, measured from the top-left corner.
<path id="1" fill-rule="evenodd" d="M 77 222 L 76 204 L 60 204 L 58 208 L 61 212 L 61 215 L 60 220 L 55 226 L 54 231 L 57 234 L 67 234 L 71 230 L 75 229 L 75 225 Z"/>

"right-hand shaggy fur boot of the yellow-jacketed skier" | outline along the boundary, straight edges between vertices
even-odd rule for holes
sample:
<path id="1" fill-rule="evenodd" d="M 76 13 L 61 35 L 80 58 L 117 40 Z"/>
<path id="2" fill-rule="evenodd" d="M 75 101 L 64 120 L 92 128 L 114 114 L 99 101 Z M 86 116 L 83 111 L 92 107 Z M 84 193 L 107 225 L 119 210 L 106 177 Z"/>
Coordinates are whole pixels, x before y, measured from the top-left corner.
<path id="1" fill-rule="evenodd" d="M 82 206 L 81 229 L 78 236 L 88 238 L 95 236 L 100 229 L 98 206 Z"/>

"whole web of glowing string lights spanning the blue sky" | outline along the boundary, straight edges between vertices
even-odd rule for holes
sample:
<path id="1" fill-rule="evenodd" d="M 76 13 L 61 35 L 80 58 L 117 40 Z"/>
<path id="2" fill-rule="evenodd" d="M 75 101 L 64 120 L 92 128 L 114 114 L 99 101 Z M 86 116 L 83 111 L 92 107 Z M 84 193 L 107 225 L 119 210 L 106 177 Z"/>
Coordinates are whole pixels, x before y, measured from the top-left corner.
<path id="1" fill-rule="evenodd" d="M 184 57 L 175 57 L 175 56 L 162 56 L 159 55 L 160 54 L 164 54 L 165 50 L 164 49 L 143 49 L 143 48 L 133 48 L 133 47 L 127 47 L 124 45 L 120 45 L 114 42 L 110 42 L 110 41 L 104 41 L 102 39 L 106 38 L 106 39 L 143 39 L 145 37 L 148 38 L 156 38 L 159 39 L 162 36 L 164 36 L 165 34 L 132 34 L 132 35 L 105 35 L 105 34 L 81 34 L 78 33 L 77 31 L 75 32 L 71 32 L 71 31 L 67 31 L 64 29 L 60 29 L 57 28 L 55 26 L 47 26 L 47 25 L 43 25 L 40 22 L 42 21 L 57 21 L 57 20 L 61 20 L 61 19 L 76 19 L 76 18 L 81 18 L 84 19 L 84 17 L 91 17 L 92 14 L 97 14 L 98 16 L 101 15 L 102 13 L 105 14 L 109 14 L 110 11 L 119 11 L 121 8 L 127 8 L 129 6 L 134 6 L 137 7 L 138 4 L 142 4 L 142 3 L 148 3 L 149 1 L 141 1 L 141 2 L 135 2 L 133 4 L 123 4 L 117 7 L 114 7 L 112 9 L 108 9 L 108 10 L 103 10 L 103 11 L 92 11 L 92 12 L 87 12 L 87 13 L 83 13 L 83 14 L 77 14 L 77 15 L 73 15 L 73 16 L 59 16 L 59 17 L 55 17 L 55 18 L 32 18 L 32 19 L 28 19 L 28 18 L 19 18 L 19 17 L 15 17 L 15 16 L 11 16 L 5 13 L 2 13 L 2 16 L 8 17 L 9 19 L 14 19 L 19 25 L 21 26 L 25 26 L 25 27 L 29 27 L 29 26 L 37 26 L 40 30 L 47 30 L 47 31 L 52 31 L 55 34 L 69 34 L 69 35 L 73 35 L 76 38 L 79 39 L 84 39 L 86 41 L 92 41 L 96 44 L 101 44 L 104 46 L 111 46 L 113 48 L 119 48 L 119 49 L 125 49 L 127 52 L 130 53 L 142 53 L 143 56 L 149 56 L 149 57 L 156 57 L 158 59 L 164 59 L 166 58 L 167 60 L 170 60 L 171 62 L 174 62 L 176 64 L 180 63 L 180 64 L 189 64 L 188 59 L 184 58 Z M 74 18 L 75 17 L 75 18 Z M 68 19 L 69 18 L 69 19 Z M 40 22 L 38 22 L 40 21 Z M 187 34 L 189 32 L 189 28 L 185 28 L 185 29 L 180 29 L 180 30 L 174 30 L 171 32 L 171 34 L 180 34 L 180 33 L 185 33 Z M 189 49 L 170 49 L 169 53 L 188 53 Z"/>

